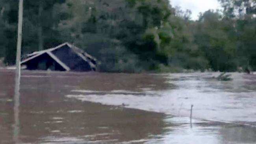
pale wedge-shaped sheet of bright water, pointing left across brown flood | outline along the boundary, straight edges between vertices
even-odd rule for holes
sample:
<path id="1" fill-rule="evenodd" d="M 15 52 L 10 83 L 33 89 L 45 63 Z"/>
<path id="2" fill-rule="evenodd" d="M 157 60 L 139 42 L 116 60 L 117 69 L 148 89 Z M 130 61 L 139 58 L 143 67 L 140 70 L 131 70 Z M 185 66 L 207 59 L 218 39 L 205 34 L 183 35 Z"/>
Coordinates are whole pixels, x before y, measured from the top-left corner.
<path id="1" fill-rule="evenodd" d="M 170 74 L 168 82 L 178 86 L 178 89 L 145 90 L 144 94 L 117 94 L 112 91 L 101 95 L 69 94 L 67 97 L 186 117 L 189 117 L 191 105 L 194 105 L 193 118 L 196 119 L 255 122 L 256 91 L 243 88 L 250 79 L 244 79 L 236 73 L 232 75 L 234 81 L 202 79 L 211 76 L 204 73 Z"/>

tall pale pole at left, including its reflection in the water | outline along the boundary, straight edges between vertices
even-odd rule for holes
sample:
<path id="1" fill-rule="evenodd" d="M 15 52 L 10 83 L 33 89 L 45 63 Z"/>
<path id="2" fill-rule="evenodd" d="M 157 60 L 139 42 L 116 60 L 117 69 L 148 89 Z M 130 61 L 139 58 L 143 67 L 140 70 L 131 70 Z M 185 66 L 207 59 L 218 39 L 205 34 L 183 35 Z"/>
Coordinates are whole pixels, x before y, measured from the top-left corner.
<path id="1" fill-rule="evenodd" d="M 18 39 L 16 53 L 16 76 L 15 76 L 15 96 L 14 96 L 14 129 L 13 140 L 19 143 L 19 105 L 20 105 L 20 53 L 22 42 L 22 23 L 23 23 L 23 0 L 19 0 L 19 22 L 18 22 Z"/>

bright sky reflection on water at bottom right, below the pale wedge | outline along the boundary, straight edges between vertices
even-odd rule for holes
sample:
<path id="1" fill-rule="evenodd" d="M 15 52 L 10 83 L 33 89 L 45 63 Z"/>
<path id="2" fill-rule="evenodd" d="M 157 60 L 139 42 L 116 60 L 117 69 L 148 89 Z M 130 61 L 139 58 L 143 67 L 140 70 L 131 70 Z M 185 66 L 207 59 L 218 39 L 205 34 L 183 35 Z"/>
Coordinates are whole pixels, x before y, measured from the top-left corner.
<path id="1" fill-rule="evenodd" d="M 194 120 L 190 128 L 188 118 L 166 117 L 169 124 L 163 135 L 154 136 L 146 144 L 254 144 L 256 130 L 250 126 Z"/>

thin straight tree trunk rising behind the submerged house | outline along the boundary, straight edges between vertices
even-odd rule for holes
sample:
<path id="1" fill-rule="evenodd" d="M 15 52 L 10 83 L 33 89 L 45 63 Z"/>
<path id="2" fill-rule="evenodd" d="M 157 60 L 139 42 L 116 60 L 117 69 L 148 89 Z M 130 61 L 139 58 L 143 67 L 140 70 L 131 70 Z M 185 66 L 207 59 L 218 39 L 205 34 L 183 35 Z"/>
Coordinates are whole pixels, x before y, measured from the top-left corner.
<path id="1" fill-rule="evenodd" d="M 38 48 L 43 50 L 43 26 L 42 26 L 43 0 L 39 0 L 38 9 Z"/>

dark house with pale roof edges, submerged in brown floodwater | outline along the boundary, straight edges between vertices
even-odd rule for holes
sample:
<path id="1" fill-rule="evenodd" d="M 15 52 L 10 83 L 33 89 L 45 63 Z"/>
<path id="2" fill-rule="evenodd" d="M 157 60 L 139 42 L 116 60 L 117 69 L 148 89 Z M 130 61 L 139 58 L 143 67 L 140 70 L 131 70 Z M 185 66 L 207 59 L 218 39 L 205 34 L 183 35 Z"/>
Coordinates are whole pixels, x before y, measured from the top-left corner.
<path id="1" fill-rule="evenodd" d="M 20 65 L 27 70 L 96 71 L 96 63 L 95 57 L 65 42 L 55 48 L 25 55 Z"/>

